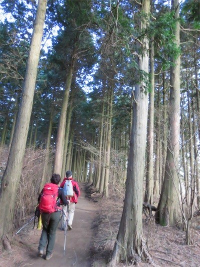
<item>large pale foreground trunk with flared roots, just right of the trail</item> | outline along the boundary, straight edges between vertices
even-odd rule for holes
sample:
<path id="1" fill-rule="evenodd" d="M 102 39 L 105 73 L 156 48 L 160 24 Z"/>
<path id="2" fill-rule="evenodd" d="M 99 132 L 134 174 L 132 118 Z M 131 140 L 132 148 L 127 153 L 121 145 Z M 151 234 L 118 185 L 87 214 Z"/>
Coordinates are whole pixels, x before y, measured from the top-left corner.
<path id="1" fill-rule="evenodd" d="M 143 0 L 140 12 L 148 16 L 150 3 Z M 140 29 L 146 28 L 147 18 L 140 21 Z M 148 73 L 148 39 L 144 36 L 138 44 L 139 70 Z M 132 130 L 130 150 L 128 155 L 127 180 L 123 213 L 120 221 L 117 240 L 111 256 L 111 263 L 115 265 L 120 261 L 137 263 L 139 260 L 148 260 L 147 244 L 142 231 L 142 186 L 145 164 L 145 144 L 147 131 L 148 93 L 144 81 L 135 86 Z"/>

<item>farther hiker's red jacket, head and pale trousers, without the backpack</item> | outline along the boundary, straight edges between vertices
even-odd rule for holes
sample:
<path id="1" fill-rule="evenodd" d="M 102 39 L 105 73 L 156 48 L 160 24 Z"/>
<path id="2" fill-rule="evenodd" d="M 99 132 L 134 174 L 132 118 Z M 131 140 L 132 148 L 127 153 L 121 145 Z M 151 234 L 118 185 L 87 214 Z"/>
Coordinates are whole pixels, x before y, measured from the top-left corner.
<path id="1" fill-rule="evenodd" d="M 67 225 L 68 229 L 72 229 L 72 221 L 73 221 L 73 215 L 75 211 L 75 204 L 77 203 L 78 196 L 80 195 L 80 189 L 78 187 L 77 182 L 72 178 L 72 172 L 66 171 L 66 177 L 64 177 L 63 181 L 60 184 L 60 187 L 64 187 L 64 184 L 67 180 L 70 180 L 73 185 L 73 196 L 72 197 L 66 197 L 66 199 L 69 199 L 70 203 L 67 206 L 62 206 L 62 218 L 61 218 L 61 228 L 62 230 L 65 230 L 65 227 Z"/>

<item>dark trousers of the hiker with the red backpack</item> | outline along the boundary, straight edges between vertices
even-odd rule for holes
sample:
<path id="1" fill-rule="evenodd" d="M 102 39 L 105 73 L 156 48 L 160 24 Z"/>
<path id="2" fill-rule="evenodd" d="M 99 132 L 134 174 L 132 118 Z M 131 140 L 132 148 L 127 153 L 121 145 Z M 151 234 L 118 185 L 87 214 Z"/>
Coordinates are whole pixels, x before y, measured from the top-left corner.
<path id="1" fill-rule="evenodd" d="M 39 250 L 44 250 L 46 246 L 46 255 L 53 251 L 55 243 L 55 233 L 59 223 L 60 212 L 41 213 L 42 232 L 39 239 Z"/>

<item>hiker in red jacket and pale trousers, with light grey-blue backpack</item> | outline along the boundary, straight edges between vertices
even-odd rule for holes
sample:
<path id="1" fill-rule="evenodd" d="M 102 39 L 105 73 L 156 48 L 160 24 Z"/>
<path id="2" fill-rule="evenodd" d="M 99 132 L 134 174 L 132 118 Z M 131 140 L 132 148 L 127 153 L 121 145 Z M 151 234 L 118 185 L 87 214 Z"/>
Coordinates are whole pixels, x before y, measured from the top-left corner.
<path id="1" fill-rule="evenodd" d="M 67 226 L 71 230 L 75 204 L 80 195 L 80 189 L 78 183 L 72 178 L 72 172 L 70 170 L 66 171 L 66 177 L 64 177 L 60 187 L 63 188 L 66 199 L 70 201 L 68 206 L 62 206 L 61 229 L 65 230 Z"/>

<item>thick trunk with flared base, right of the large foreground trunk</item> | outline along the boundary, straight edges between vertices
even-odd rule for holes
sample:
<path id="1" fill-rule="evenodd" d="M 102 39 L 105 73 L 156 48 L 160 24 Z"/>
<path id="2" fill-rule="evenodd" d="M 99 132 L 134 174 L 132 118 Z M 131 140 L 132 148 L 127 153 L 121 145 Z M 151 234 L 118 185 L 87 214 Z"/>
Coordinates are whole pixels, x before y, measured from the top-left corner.
<path id="1" fill-rule="evenodd" d="M 179 3 L 172 0 L 172 10 L 176 25 L 174 29 L 174 44 L 179 47 Z M 179 206 L 179 107 L 180 107 L 180 56 L 172 59 L 170 71 L 170 98 L 169 98 L 169 133 L 167 140 L 166 164 L 161 195 L 157 206 L 156 220 L 161 225 L 180 223 Z"/>

